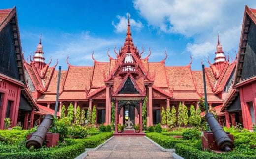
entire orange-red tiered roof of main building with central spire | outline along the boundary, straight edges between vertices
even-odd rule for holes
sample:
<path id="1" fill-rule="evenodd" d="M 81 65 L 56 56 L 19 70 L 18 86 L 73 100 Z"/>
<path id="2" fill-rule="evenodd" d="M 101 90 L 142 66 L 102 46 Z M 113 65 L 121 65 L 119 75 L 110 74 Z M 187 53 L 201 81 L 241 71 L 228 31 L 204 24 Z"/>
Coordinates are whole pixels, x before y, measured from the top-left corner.
<path id="1" fill-rule="evenodd" d="M 219 47 L 218 47 L 219 46 Z M 216 53 L 223 53 L 222 47 L 220 50 L 220 41 L 218 39 Z M 116 48 L 115 48 L 116 49 Z M 106 86 L 112 85 L 111 95 L 119 97 L 124 94 L 119 94 L 119 91 L 124 87 L 128 78 L 131 79 L 135 89 L 139 92 L 137 95 L 125 96 L 139 96 L 146 95 L 147 85 L 152 85 L 153 98 L 158 99 L 172 99 L 176 101 L 198 101 L 204 95 L 202 71 L 192 71 L 191 63 L 187 66 L 172 67 L 165 66 L 166 57 L 160 62 L 149 62 L 151 51 L 149 55 L 142 59 L 141 53 L 134 45 L 130 25 L 128 22 L 126 40 L 121 49 L 116 52 L 116 58 L 109 56 L 109 62 L 99 62 L 94 60 L 93 67 L 72 66 L 68 63 L 68 70 L 62 71 L 60 84 L 60 100 L 88 100 L 89 98 L 106 98 Z M 191 58 L 192 59 L 192 58 Z M 225 59 L 223 57 L 222 59 Z M 55 101 L 54 94 L 56 94 L 56 84 L 58 72 L 54 71 L 54 67 L 43 68 L 46 70 L 45 74 L 38 76 L 40 72 L 33 67 L 33 61 L 30 63 L 25 61 L 26 69 L 37 90 L 42 88 L 44 92 L 38 102 L 52 102 Z M 220 92 L 223 91 L 224 86 L 231 75 L 235 62 L 216 61 L 210 67 L 206 67 L 206 86 L 207 97 L 209 102 L 222 103 Z M 129 68 L 129 69 L 128 69 Z M 52 70 L 52 76 L 51 75 Z M 48 73 L 47 73 L 48 71 Z M 50 79 L 47 79 L 50 77 Z M 44 85 L 42 84 L 44 81 Z M 48 84 L 47 84 L 48 83 Z M 52 96 L 52 97 L 51 97 Z"/>

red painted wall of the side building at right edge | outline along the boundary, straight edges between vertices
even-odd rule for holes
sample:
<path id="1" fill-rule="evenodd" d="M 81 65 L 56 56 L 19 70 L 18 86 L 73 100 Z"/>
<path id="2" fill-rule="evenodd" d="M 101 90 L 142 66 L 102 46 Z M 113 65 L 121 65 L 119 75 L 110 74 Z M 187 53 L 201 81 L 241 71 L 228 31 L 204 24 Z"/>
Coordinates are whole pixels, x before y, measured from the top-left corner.
<path id="1" fill-rule="evenodd" d="M 246 129 L 252 129 L 252 120 L 248 102 L 253 103 L 254 118 L 256 120 L 256 82 L 250 83 L 239 88 L 243 125 Z"/>

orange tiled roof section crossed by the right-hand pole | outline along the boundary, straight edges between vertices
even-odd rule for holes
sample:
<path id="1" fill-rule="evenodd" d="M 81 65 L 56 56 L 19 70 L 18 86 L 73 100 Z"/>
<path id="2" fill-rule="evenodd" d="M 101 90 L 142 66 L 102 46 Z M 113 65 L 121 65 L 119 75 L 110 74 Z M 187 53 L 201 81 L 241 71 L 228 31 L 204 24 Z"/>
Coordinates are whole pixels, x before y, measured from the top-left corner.
<path id="1" fill-rule="evenodd" d="M 204 94 L 204 86 L 203 86 L 203 73 L 202 71 L 192 71 L 193 79 L 196 83 L 197 92 L 200 94 Z M 208 78 L 206 80 L 206 91 L 208 93 L 213 93 L 212 88 L 210 86 Z"/>

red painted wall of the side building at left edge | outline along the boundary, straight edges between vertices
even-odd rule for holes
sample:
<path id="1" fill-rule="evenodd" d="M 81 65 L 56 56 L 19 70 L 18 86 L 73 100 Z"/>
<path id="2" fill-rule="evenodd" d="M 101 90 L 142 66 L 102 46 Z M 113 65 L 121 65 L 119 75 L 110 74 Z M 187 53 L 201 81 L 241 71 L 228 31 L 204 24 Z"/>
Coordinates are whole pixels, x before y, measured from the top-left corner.
<path id="1" fill-rule="evenodd" d="M 2 93 L 0 106 L 0 129 L 4 129 L 8 101 L 11 101 L 10 119 L 11 127 L 17 124 L 21 87 L 6 80 L 0 81 L 0 93 Z"/>

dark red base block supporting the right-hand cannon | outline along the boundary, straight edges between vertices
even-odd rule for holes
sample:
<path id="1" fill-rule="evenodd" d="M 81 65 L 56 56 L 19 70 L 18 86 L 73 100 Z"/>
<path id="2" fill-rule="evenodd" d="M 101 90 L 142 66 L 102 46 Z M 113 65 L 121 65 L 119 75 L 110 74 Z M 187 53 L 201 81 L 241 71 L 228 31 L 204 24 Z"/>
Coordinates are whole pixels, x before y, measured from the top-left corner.
<path id="1" fill-rule="evenodd" d="M 213 133 L 211 132 L 203 132 L 202 136 L 202 144 L 203 144 L 203 151 L 206 149 L 214 150 L 216 152 L 220 151 L 217 145 L 217 142 L 214 140 Z M 234 136 L 231 134 L 227 134 L 228 137 L 234 142 Z"/>

